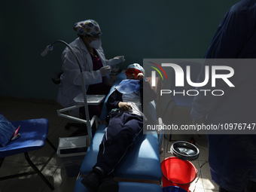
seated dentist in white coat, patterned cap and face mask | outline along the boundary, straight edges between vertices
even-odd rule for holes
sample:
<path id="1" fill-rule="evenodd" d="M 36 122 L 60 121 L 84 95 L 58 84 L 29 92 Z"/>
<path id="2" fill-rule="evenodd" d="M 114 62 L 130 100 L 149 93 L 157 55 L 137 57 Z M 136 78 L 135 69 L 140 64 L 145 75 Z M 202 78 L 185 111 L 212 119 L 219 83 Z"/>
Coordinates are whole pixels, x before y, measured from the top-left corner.
<path id="1" fill-rule="evenodd" d="M 95 20 L 84 20 L 75 23 L 74 29 L 78 32 L 78 38 L 72 41 L 70 47 L 75 51 L 84 71 L 84 81 L 87 94 L 108 94 L 112 81 L 109 76 L 111 69 L 116 64 L 124 62 L 123 56 L 113 59 L 105 59 L 101 47 L 102 32 Z M 80 68 L 75 56 L 68 47 L 62 52 L 62 75 L 60 77 L 57 102 L 66 108 L 75 105 L 74 98 L 82 93 Z M 89 105 L 90 118 L 100 114 L 99 105 Z M 83 113 L 84 110 L 80 109 Z M 69 111 L 69 114 L 79 117 L 79 109 Z"/>

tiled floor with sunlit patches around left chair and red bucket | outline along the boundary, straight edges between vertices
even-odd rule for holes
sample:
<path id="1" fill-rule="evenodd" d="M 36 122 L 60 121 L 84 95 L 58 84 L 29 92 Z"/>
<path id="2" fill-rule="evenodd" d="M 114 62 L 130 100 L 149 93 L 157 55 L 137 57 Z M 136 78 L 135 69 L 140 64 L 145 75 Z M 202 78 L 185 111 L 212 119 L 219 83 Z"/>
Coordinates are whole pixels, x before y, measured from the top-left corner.
<path id="1" fill-rule="evenodd" d="M 53 101 L 35 101 L 28 99 L 8 99 L 0 97 L 0 112 L 5 115 L 9 120 L 26 120 L 32 118 L 47 118 L 50 122 L 48 139 L 57 147 L 59 137 L 67 137 L 76 128 L 66 130 L 64 126 L 70 120 L 58 117 L 56 109 L 61 108 L 60 105 Z M 173 140 L 189 141 L 190 136 L 172 136 Z M 206 137 L 196 139 L 197 143 L 203 147 L 207 147 Z M 169 147 L 172 142 L 169 143 Z M 166 157 L 172 156 L 166 152 L 167 139 L 164 141 L 164 152 L 160 154 L 160 160 L 164 160 Z M 200 147 L 199 147 L 200 148 Z M 200 148 L 200 157 L 198 160 L 191 163 L 199 170 L 200 165 L 208 157 L 208 151 Z M 29 157 L 41 169 L 46 178 L 55 187 L 54 191 L 68 192 L 73 191 L 75 186 L 76 177 L 68 177 L 65 169 L 62 168 L 62 161 L 57 157 L 56 153 L 50 148 L 50 145 L 46 144 L 38 151 L 29 152 Z M 6 157 L 5 161 L 0 169 L 0 176 L 11 175 L 17 172 L 24 172 L 31 169 L 28 163 L 26 163 L 23 154 Z M 211 180 L 209 172 L 209 163 L 206 163 L 201 169 L 201 175 L 197 183 L 194 181 L 190 184 L 191 192 L 210 192 L 218 191 L 218 186 Z M 12 191 L 26 191 L 26 192 L 47 192 L 51 191 L 50 188 L 44 184 L 44 181 L 38 175 L 23 176 L 20 178 L 12 178 L 5 181 L 0 181 L 0 191 L 12 192 Z"/>

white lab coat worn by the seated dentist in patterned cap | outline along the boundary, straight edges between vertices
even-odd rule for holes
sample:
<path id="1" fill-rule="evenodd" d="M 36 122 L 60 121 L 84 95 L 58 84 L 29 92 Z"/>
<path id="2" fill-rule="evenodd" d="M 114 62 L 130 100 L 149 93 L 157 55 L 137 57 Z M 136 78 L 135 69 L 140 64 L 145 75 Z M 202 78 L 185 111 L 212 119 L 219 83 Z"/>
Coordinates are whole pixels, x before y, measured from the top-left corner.
<path id="1" fill-rule="evenodd" d="M 99 70 L 93 71 L 93 60 L 83 40 L 81 38 L 76 38 L 75 41 L 72 41 L 72 43 L 69 45 L 72 47 L 78 56 L 79 61 L 81 62 L 81 68 L 84 72 L 86 90 L 90 84 L 102 83 L 102 75 Z M 99 47 L 96 52 L 98 53 L 103 66 L 111 66 L 108 59 L 105 59 L 102 47 Z M 60 77 L 61 83 L 59 84 L 57 102 L 59 102 L 62 107 L 66 108 L 76 105 L 74 98 L 82 93 L 80 76 L 81 72 L 78 62 L 75 59 L 75 56 L 69 50 L 69 47 L 66 47 L 66 49 L 62 52 L 61 59 L 63 74 Z M 105 76 L 105 84 L 108 84 L 109 86 L 112 85 L 109 75 Z M 79 108 L 69 111 L 69 114 L 79 117 Z"/>

